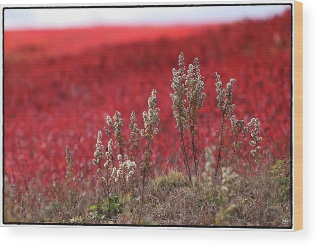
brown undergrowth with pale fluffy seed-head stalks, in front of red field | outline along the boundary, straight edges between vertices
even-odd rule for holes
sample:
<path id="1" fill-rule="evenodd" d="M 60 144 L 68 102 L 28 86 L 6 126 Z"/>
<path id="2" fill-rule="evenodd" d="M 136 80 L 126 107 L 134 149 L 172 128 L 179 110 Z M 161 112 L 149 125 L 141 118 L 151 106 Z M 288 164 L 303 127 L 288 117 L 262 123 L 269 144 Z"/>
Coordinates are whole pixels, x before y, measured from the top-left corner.
<path id="1" fill-rule="evenodd" d="M 73 174 L 71 150 L 66 148 L 66 176 L 47 197 L 37 182 L 9 184 L 5 178 L 4 221 L 70 224 L 163 225 L 163 226 L 290 226 L 290 159 L 272 157 L 261 148 L 257 118 L 235 120 L 232 93 L 234 79 L 226 87 L 215 73 L 218 108 L 221 112 L 218 141 L 199 147 L 197 123 L 203 107 L 205 84 L 197 58 L 187 73 L 179 56 L 173 70 L 172 109 L 180 135 L 180 154 L 168 171 L 155 173 L 152 159 L 159 132 L 157 91 L 148 99 L 139 130 L 131 114 L 130 140 L 122 136 L 124 120 L 116 111 L 106 117 L 105 132 L 98 131 L 90 181 Z M 249 141 L 247 137 L 250 136 Z M 247 142 L 248 145 L 244 145 Z M 104 145 L 103 144 L 107 144 Z M 240 149 L 251 146 L 244 173 Z M 198 158 L 201 155 L 200 159 Z M 191 175 L 192 174 L 192 175 Z M 49 199 L 48 199 L 49 198 Z"/>

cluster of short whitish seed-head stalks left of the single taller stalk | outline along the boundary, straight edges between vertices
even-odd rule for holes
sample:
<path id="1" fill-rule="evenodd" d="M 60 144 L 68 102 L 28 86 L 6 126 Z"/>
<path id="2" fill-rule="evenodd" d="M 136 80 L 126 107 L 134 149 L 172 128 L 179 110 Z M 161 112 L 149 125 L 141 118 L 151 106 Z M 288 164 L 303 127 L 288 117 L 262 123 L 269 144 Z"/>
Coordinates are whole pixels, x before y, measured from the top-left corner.
<path id="1" fill-rule="evenodd" d="M 109 128 L 104 128 L 106 135 L 109 136 L 109 141 L 107 147 L 105 148 L 105 153 L 103 150 L 103 145 L 101 143 L 102 133 L 98 131 L 96 151 L 94 156 L 96 159 L 92 160 L 92 163 L 97 166 L 98 179 L 96 183 L 96 191 L 98 188 L 98 180 L 101 181 L 104 197 L 109 197 L 110 194 L 122 193 L 126 195 L 130 191 L 131 183 L 134 178 L 136 162 L 133 161 L 134 155 L 133 150 L 136 148 L 137 142 L 139 141 L 139 130 L 136 125 L 135 112 L 132 112 L 132 123 L 130 128 L 132 129 L 132 140 L 131 140 L 131 158 L 127 154 L 125 147 L 127 146 L 124 138 L 122 137 L 123 132 L 123 119 L 120 118 L 120 112 L 116 111 L 113 120 L 110 116 L 106 117 L 106 123 Z M 114 137 L 115 143 L 112 137 Z M 132 142 L 134 142 L 132 144 Z M 117 154 L 117 156 L 116 156 Z M 104 156 L 106 161 L 101 166 Z M 116 158 L 115 158 L 115 157 Z M 104 169 L 105 168 L 105 169 Z M 118 188 L 119 187 L 119 188 Z"/>

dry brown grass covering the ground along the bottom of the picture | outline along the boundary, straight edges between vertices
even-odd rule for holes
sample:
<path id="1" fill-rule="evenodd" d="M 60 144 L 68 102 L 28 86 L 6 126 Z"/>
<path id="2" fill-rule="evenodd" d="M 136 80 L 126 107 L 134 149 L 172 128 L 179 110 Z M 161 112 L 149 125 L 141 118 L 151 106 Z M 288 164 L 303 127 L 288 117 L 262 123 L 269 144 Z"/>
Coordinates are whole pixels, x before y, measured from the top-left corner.
<path id="1" fill-rule="evenodd" d="M 287 164 L 284 164 L 287 165 Z M 253 178 L 239 178 L 227 199 L 235 205 L 224 215 L 223 226 L 286 227 L 282 219 L 290 218 L 290 191 L 282 194 L 280 179 L 273 179 L 271 172 Z M 216 225 L 217 214 L 227 208 L 220 198 L 218 188 L 221 175 L 215 178 L 208 195 L 203 193 L 205 184 L 190 183 L 178 171 L 169 172 L 145 183 L 144 202 L 139 224 L 142 225 Z M 283 181 L 284 182 L 284 181 Z M 66 190 L 48 201 L 36 184 L 26 190 L 23 186 L 5 182 L 5 222 L 39 223 L 88 223 L 88 224 L 137 224 L 140 210 L 141 184 L 126 196 L 119 196 L 102 206 L 98 193 L 90 187 Z M 99 201 L 99 202 L 98 202 Z M 98 209 L 92 205 L 101 203 Z M 229 204 L 229 203 L 228 203 Z M 104 204 L 105 205 L 105 204 Z M 118 210 L 116 207 L 118 206 Z M 113 211 L 112 208 L 115 208 Z M 107 211 L 107 213 L 106 213 Z"/>

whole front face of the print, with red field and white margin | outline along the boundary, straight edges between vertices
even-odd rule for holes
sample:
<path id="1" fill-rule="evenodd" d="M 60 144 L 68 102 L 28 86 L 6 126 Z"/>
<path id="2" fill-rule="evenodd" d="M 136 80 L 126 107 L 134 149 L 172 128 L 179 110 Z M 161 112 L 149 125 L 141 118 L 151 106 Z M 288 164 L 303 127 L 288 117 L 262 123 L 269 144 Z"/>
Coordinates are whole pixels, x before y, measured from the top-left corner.
<path id="1" fill-rule="evenodd" d="M 2 224 L 294 229 L 294 4 L 2 7 Z"/>

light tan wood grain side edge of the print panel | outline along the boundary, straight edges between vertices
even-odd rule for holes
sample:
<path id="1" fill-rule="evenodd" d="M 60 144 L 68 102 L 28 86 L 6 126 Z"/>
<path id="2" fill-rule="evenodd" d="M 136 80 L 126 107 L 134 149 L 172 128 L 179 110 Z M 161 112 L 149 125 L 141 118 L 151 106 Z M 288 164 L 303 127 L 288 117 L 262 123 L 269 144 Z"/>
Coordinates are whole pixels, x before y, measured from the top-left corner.
<path id="1" fill-rule="evenodd" d="M 295 231 L 303 229 L 303 3 L 295 1 Z"/>

